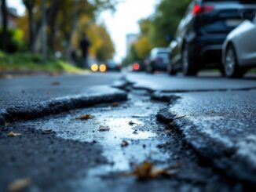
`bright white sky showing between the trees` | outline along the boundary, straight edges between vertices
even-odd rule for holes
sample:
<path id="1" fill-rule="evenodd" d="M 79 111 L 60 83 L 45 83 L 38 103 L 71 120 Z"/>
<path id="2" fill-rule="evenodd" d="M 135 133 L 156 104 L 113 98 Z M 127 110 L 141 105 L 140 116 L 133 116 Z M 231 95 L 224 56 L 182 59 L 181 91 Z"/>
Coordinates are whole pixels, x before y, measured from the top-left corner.
<path id="1" fill-rule="evenodd" d="M 152 15 L 157 2 L 159 0 L 123 0 L 116 6 L 115 13 L 101 13 L 98 22 L 108 28 L 115 44 L 115 60 L 121 61 L 126 56 L 126 34 L 139 32 L 137 22 Z M 22 0 L 9 0 L 7 4 L 16 8 L 18 13 L 24 13 Z"/>

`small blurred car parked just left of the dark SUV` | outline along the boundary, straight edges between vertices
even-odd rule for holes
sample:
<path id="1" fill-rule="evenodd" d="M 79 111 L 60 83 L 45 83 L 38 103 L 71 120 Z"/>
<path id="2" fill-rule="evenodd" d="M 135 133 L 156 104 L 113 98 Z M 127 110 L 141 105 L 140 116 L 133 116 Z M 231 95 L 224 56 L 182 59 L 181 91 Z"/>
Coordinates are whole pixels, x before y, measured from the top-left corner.
<path id="1" fill-rule="evenodd" d="M 169 63 L 169 49 L 168 48 L 154 48 L 152 49 L 148 62 L 145 63 L 146 71 L 154 73 L 155 71 L 166 71 Z"/>

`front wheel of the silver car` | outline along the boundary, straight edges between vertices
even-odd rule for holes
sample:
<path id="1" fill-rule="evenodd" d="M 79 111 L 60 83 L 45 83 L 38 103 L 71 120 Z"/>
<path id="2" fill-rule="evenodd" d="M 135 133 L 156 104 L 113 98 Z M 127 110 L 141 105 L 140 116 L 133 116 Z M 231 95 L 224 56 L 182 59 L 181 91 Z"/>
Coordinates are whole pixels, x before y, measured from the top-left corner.
<path id="1" fill-rule="evenodd" d="M 242 78 L 245 70 L 238 66 L 236 51 L 233 45 L 229 45 L 225 53 L 225 76 L 228 78 Z"/>

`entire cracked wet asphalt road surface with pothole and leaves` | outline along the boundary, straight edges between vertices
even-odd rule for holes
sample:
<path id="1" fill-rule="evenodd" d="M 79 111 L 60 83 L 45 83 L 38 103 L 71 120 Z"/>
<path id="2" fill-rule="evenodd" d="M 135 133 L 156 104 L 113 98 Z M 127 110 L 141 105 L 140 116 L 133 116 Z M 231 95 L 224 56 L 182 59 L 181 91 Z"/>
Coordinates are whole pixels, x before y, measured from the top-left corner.
<path id="1" fill-rule="evenodd" d="M 256 189 L 254 78 L 113 73 L 0 85 L 0 191 Z"/>

